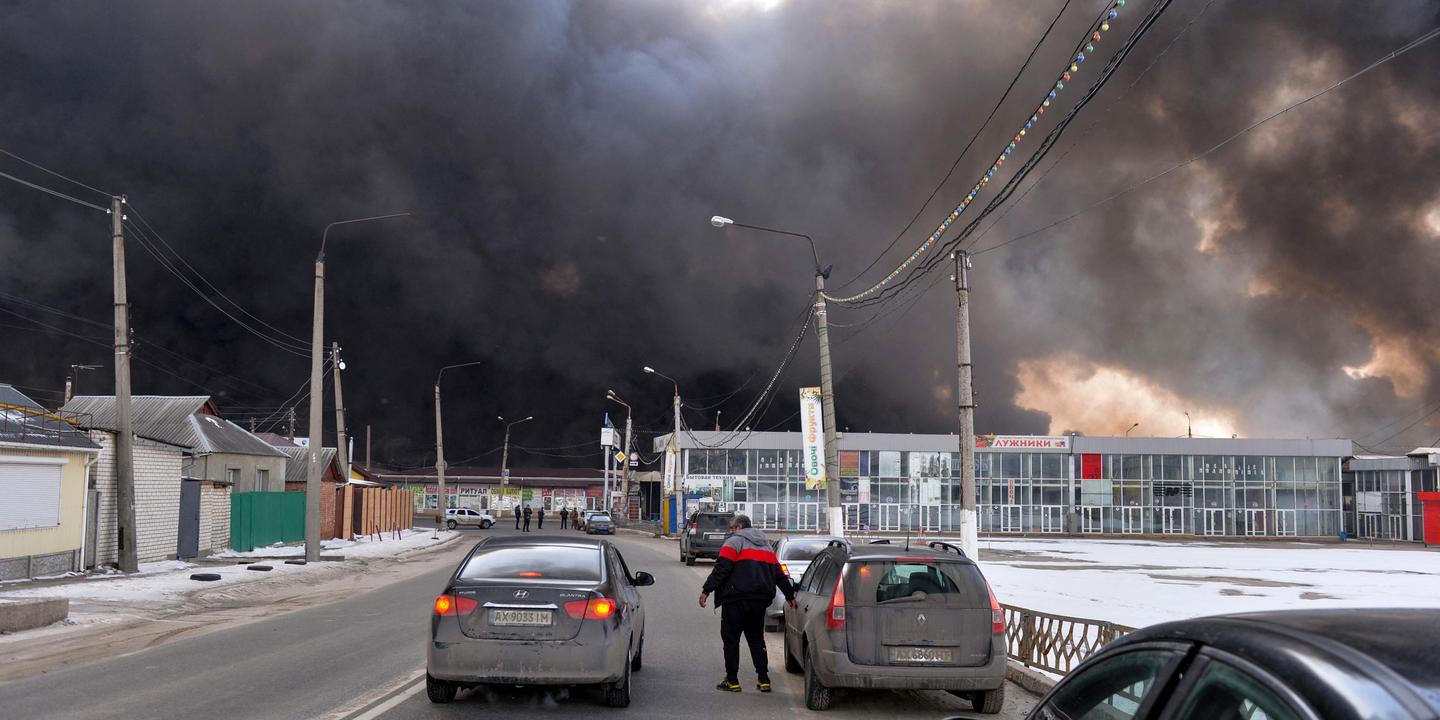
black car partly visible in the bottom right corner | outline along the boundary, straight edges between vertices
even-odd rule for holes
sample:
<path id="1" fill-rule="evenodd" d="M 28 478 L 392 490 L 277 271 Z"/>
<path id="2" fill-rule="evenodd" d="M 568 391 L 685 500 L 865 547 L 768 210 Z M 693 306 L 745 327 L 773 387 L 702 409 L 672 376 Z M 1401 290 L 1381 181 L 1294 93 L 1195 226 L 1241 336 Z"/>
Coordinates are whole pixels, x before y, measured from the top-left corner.
<path id="1" fill-rule="evenodd" d="M 1030 717 L 1440 717 L 1440 611 L 1274 611 L 1152 625 L 1081 662 Z"/>

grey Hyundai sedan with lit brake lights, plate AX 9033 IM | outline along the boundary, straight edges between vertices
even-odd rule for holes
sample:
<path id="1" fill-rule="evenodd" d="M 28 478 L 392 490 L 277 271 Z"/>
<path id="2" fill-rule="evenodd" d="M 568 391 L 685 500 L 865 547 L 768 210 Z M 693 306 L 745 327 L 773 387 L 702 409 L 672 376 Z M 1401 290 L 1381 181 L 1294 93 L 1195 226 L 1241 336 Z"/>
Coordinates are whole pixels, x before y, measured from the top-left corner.
<path id="1" fill-rule="evenodd" d="M 426 694 L 449 703 L 484 684 L 596 685 L 626 707 L 645 649 L 636 589 L 654 583 L 606 540 L 481 540 L 435 598 Z"/>

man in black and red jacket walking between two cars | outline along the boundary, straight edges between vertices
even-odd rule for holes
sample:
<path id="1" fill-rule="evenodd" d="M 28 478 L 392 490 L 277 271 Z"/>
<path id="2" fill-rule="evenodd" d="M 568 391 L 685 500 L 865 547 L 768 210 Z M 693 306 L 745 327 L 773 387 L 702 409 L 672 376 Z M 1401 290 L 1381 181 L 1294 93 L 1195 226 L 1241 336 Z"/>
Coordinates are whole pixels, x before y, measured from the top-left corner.
<path id="1" fill-rule="evenodd" d="M 720 557 L 700 589 L 700 606 L 706 598 L 716 593 L 720 606 L 720 641 L 724 645 L 724 680 L 716 690 L 740 691 L 740 635 L 750 645 L 750 660 L 759 675 L 756 688 L 770 691 L 770 660 L 765 652 L 765 611 L 775 599 L 776 588 L 785 593 L 785 602 L 795 606 L 795 588 L 789 576 L 780 570 L 780 562 L 770 550 L 770 540 L 756 527 L 750 527 L 747 516 L 730 520 L 730 536 L 720 547 Z"/>

